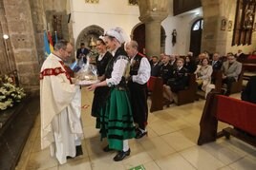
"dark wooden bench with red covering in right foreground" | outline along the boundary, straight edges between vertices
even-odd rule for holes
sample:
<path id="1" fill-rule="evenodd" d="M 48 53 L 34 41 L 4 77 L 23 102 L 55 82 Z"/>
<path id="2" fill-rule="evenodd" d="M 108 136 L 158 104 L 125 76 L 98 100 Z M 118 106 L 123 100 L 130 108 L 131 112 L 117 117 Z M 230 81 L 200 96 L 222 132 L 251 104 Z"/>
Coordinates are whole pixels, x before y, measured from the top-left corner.
<path id="1" fill-rule="evenodd" d="M 228 105 L 228 106 L 227 106 Z M 210 92 L 203 108 L 198 144 L 215 142 L 232 135 L 256 146 L 256 104 Z M 218 121 L 233 125 L 217 132 Z"/>

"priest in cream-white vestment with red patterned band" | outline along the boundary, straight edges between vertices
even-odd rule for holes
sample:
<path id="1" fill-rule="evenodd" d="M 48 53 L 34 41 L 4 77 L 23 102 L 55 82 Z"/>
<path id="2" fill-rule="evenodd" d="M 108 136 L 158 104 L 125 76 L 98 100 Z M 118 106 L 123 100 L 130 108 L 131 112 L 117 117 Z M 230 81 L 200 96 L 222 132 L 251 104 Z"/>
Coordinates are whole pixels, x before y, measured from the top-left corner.
<path id="1" fill-rule="evenodd" d="M 63 63 L 72 51 L 69 42 L 58 41 L 40 71 L 41 148 L 50 146 L 60 164 L 82 155 L 80 86 L 72 83 Z"/>

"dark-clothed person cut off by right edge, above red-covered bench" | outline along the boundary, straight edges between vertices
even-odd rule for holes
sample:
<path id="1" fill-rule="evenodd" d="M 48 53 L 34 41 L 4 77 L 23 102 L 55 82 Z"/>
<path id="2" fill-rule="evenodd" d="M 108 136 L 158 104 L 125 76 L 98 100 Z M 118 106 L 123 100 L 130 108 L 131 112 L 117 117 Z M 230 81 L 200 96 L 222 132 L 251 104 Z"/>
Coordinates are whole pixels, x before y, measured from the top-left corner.
<path id="1" fill-rule="evenodd" d="M 245 89 L 242 91 L 241 99 L 256 104 L 256 76 L 250 77 Z"/>

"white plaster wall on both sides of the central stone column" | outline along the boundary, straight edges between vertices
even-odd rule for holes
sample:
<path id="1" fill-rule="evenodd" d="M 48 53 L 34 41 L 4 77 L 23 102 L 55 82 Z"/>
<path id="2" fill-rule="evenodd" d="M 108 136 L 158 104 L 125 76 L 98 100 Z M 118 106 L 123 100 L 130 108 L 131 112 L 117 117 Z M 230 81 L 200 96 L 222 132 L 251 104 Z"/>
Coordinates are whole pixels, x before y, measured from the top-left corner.
<path id="1" fill-rule="evenodd" d="M 70 4 L 75 42 L 79 33 L 91 25 L 99 26 L 104 30 L 114 27 L 124 28 L 127 35 L 130 35 L 132 29 L 140 23 L 139 7 L 129 6 L 128 0 L 100 0 L 99 4 L 87 4 L 85 0 L 70 0 Z M 193 21 L 202 16 L 202 9 L 174 17 L 171 8 L 170 13 L 161 23 L 167 36 L 165 53 L 184 55 L 189 50 L 191 26 Z M 178 36 L 177 44 L 172 47 L 171 34 L 174 28 L 176 28 Z"/>

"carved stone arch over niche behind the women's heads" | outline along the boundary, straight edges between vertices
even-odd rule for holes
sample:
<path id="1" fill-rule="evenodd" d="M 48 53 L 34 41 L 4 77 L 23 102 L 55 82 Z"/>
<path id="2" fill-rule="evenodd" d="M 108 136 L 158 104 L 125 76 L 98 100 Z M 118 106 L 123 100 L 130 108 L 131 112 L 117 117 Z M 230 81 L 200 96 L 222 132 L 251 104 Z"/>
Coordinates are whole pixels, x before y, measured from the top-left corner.
<path id="1" fill-rule="evenodd" d="M 85 47 L 90 48 L 90 42 L 93 38 L 94 41 L 100 36 L 104 34 L 104 28 L 100 28 L 99 26 L 92 25 L 87 28 L 84 28 L 78 35 L 75 47 L 80 47 L 80 43 L 84 43 Z"/>

